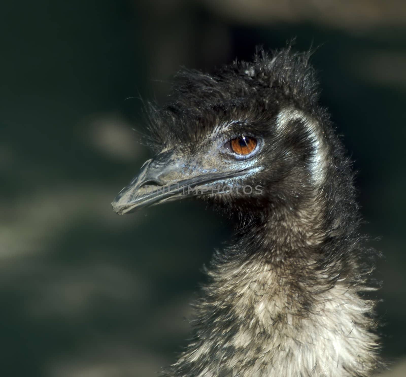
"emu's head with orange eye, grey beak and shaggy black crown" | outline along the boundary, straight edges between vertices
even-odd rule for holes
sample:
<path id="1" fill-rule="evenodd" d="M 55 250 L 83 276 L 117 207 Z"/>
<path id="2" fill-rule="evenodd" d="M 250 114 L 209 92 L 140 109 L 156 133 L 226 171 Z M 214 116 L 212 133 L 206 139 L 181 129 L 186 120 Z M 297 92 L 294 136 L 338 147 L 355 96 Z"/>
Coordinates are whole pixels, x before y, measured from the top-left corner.
<path id="1" fill-rule="evenodd" d="M 340 192 L 327 183 L 343 165 L 333 153 L 340 146 L 317 105 L 308 58 L 286 49 L 214 75 L 178 73 L 166 106 L 151 111 L 156 155 L 115 198 L 114 211 L 193 196 L 241 218 Z"/>

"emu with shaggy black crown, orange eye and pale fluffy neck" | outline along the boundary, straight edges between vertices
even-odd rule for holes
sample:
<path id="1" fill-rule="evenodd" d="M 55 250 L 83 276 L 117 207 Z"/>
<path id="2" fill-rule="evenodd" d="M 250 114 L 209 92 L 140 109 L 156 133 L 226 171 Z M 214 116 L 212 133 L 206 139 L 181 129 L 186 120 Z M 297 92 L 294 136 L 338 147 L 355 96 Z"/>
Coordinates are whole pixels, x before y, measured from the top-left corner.
<path id="1" fill-rule="evenodd" d="M 310 53 L 260 50 L 209 75 L 182 70 L 149 109 L 156 153 L 112 203 L 119 214 L 194 197 L 235 224 L 166 377 L 370 376 L 379 339 L 374 250 L 354 174 Z"/>

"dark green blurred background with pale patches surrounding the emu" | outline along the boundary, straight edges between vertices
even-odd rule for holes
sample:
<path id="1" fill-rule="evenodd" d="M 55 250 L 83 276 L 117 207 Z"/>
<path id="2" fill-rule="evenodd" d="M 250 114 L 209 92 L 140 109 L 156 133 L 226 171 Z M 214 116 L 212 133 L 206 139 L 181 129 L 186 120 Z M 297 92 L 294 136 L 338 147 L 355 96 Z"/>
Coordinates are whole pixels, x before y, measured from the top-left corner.
<path id="1" fill-rule="evenodd" d="M 292 37 L 318 47 L 321 101 L 385 256 L 388 376 L 406 375 L 404 1 L 23 0 L 0 25 L 2 376 L 150 377 L 175 360 L 201 266 L 230 229 L 194 202 L 113 213 L 149 157 L 132 130 L 140 98 L 164 100 L 181 66 L 212 71 Z"/>

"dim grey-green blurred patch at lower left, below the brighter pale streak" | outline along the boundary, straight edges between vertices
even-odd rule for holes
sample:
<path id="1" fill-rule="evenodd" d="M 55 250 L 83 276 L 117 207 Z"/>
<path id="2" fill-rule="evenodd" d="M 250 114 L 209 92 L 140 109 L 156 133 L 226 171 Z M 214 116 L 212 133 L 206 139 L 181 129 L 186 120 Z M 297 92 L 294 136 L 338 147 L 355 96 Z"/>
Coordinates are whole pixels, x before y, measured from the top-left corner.
<path id="1" fill-rule="evenodd" d="M 91 314 L 100 300 L 106 305 L 129 307 L 133 302 L 142 304 L 151 294 L 145 279 L 134 271 L 102 263 L 74 269 L 36 266 L 33 273 L 47 277 L 32 284 L 32 295 L 25 302 L 27 312 L 34 317 L 72 320 Z"/>

